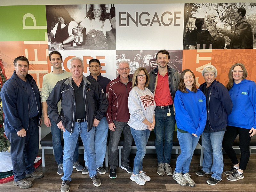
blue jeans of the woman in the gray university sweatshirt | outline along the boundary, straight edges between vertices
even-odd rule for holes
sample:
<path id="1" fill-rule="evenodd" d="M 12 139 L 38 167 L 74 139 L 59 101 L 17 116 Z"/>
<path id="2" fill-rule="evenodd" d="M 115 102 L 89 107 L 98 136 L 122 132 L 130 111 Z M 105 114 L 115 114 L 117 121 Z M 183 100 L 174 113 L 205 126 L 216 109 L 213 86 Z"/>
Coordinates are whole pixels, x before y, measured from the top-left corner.
<path id="1" fill-rule="evenodd" d="M 133 174 L 137 175 L 140 171 L 142 171 L 142 162 L 146 154 L 146 145 L 148 142 L 150 131 L 148 129 L 139 131 L 131 127 L 131 133 L 137 148 L 136 156 L 133 162 Z"/>

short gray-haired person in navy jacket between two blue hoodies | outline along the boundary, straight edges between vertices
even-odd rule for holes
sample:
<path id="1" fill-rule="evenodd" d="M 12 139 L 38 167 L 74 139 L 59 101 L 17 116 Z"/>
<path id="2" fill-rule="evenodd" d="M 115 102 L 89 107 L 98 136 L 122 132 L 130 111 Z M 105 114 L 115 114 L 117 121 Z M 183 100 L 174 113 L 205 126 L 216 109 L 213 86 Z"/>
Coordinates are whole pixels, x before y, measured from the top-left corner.
<path id="1" fill-rule="evenodd" d="M 202 133 L 203 168 L 197 171 L 196 175 L 212 174 L 206 183 L 216 185 L 221 181 L 223 172 L 222 140 L 233 103 L 227 88 L 215 80 L 217 69 L 214 66 L 204 67 L 202 75 L 205 83 L 201 84 L 199 89 L 206 96 L 207 121 Z"/>

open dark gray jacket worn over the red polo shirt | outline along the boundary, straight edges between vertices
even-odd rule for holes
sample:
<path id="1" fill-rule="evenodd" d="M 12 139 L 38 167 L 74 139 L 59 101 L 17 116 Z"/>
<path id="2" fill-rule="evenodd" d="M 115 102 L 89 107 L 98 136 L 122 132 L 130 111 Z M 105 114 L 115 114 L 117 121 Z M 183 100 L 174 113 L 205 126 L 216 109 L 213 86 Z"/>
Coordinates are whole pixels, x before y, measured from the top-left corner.
<path id="1" fill-rule="evenodd" d="M 176 70 L 172 69 L 171 67 L 167 67 L 168 69 L 168 81 L 169 81 L 169 89 L 172 96 L 172 100 L 174 101 L 175 92 L 178 90 L 178 82 L 180 80 L 180 73 Z M 149 73 L 149 85 L 148 89 L 155 95 L 156 93 L 156 85 L 157 85 L 157 73 L 158 73 L 158 66 L 150 71 Z"/>

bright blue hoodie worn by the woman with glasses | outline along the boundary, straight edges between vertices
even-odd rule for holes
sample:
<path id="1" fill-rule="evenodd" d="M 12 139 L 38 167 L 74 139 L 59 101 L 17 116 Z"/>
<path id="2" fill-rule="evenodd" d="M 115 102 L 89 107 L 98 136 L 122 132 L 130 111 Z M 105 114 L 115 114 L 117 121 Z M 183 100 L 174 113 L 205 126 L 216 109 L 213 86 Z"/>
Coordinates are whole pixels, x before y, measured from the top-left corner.
<path id="1" fill-rule="evenodd" d="M 228 125 L 245 129 L 256 129 L 256 84 L 244 79 L 233 84 L 228 91 L 233 102 Z"/>

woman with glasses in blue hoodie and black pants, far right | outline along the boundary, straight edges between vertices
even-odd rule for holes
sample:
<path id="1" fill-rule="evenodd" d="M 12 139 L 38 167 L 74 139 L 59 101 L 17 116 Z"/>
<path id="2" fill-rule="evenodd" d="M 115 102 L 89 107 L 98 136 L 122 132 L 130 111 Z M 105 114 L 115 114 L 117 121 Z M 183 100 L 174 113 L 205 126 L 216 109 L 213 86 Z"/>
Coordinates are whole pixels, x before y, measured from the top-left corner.
<path id="1" fill-rule="evenodd" d="M 249 161 L 250 141 L 256 133 L 256 85 L 246 80 L 247 71 L 242 63 L 234 64 L 228 73 L 227 89 L 233 102 L 233 109 L 228 116 L 227 131 L 224 134 L 222 147 L 234 166 L 224 173 L 230 181 L 244 179 L 243 171 Z M 232 148 L 239 135 L 241 151 L 240 164 Z"/>

